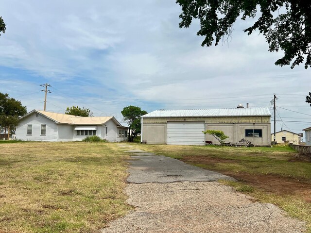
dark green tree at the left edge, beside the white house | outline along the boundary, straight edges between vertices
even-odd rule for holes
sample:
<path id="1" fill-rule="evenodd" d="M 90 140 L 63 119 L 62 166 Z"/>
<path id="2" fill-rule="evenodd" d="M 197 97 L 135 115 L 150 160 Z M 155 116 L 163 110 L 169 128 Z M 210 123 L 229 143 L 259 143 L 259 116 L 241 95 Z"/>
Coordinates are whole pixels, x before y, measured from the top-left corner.
<path id="1" fill-rule="evenodd" d="M 26 107 L 20 101 L 0 93 L 0 128 L 4 128 L 4 133 L 8 131 L 8 138 L 10 130 L 14 132 L 18 124 L 18 118 L 26 113 Z"/>

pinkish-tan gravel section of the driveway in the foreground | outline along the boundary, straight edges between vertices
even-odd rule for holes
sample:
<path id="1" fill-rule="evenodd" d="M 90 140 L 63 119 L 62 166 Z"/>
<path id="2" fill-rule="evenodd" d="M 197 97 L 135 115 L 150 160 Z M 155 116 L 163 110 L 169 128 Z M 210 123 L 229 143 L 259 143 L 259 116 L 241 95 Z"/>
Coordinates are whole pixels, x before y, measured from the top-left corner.
<path id="1" fill-rule="evenodd" d="M 301 233 L 305 224 L 273 204 L 218 182 L 129 184 L 136 210 L 102 233 Z"/>

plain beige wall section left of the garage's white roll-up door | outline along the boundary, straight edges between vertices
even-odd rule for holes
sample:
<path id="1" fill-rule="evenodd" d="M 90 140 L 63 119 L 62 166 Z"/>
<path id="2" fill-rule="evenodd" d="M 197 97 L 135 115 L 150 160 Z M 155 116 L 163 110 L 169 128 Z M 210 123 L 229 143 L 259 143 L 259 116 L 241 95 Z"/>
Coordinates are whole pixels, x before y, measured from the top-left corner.
<path id="1" fill-rule="evenodd" d="M 166 124 L 143 124 L 142 140 L 148 144 L 166 144 Z"/>

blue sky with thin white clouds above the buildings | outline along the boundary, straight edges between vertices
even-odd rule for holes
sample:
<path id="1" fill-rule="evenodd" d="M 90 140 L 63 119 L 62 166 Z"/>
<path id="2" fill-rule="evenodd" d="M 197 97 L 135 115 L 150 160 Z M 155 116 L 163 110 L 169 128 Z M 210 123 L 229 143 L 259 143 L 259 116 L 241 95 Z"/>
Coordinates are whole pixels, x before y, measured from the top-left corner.
<path id="1" fill-rule="evenodd" d="M 180 29 L 180 14 L 174 0 L 1 0 L 0 92 L 43 110 L 40 85 L 48 83 L 47 111 L 84 106 L 124 125 L 128 105 L 271 109 L 276 94 L 276 131 L 311 126 L 311 68 L 275 66 L 283 53 L 242 31 L 253 19 L 238 20 L 220 45 L 201 47 L 199 23 Z"/>

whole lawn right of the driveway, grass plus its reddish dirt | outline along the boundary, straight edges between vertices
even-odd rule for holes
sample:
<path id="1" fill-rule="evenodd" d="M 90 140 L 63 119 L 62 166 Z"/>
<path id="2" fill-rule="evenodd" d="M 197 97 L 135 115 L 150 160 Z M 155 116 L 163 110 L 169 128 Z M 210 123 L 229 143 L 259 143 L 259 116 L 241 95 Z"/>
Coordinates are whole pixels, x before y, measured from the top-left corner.
<path id="1" fill-rule="evenodd" d="M 232 176 L 238 182 L 221 182 L 258 201 L 276 204 L 290 216 L 306 221 L 311 233 L 311 158 L 297 156 L 290 147 L 137 147 Z"/>

